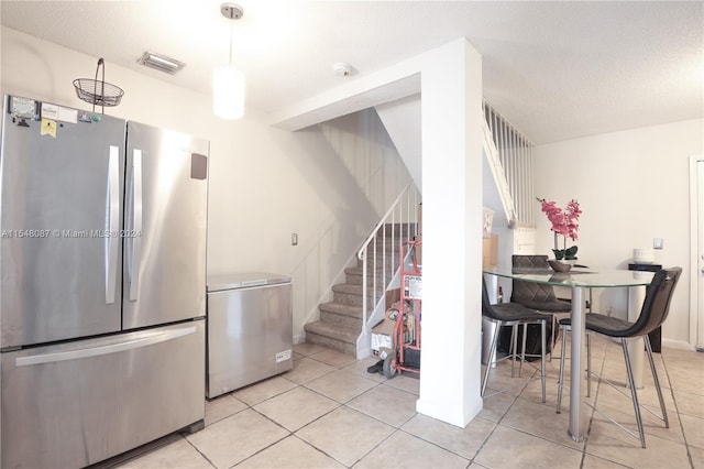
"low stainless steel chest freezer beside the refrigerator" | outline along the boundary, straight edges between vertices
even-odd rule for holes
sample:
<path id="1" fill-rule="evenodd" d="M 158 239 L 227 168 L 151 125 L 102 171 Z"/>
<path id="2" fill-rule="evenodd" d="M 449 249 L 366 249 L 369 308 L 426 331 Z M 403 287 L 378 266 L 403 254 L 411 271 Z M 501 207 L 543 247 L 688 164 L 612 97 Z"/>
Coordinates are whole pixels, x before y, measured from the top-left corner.
<path id="1" fill-rule="evenodd" d="M 208 399 L 293 368 L 290 277 L 211 276 L 207 294 Z"/>

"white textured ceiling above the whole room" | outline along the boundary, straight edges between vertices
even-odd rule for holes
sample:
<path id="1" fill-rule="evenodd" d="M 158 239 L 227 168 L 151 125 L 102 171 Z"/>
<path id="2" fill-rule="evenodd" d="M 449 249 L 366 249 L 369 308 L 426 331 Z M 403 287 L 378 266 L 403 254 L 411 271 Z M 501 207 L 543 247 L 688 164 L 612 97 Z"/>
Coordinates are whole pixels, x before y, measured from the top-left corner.
<path id="1" fill-rule="evenodd" d="M 238 3 L 234 63 L 248 106 L 265 112 L 465 36 L 483 56 L 484 97 L 536 143 L 704 116 L 698 1 Z M 8 28 L 209 95 L 229 55 L 220 4 L 2 0 L 0 14 Z M 136 64 L 144 51 L 187 65 L 155 72 Z M 336 76 L 336 62 L 353 75 Z"/>

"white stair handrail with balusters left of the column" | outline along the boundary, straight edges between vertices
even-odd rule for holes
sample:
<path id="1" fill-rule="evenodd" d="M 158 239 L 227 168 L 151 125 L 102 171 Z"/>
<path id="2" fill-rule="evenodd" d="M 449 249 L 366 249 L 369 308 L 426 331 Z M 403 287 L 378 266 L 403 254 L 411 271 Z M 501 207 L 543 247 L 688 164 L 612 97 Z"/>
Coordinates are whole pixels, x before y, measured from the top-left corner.
<path id="1" fill-rule="evenodd" d="M 400 252 L 400 247 L 404 242 L 410 241 L 411 237 L 418 233 L 418 205 L 420 204 L 420 193 L 416 188 L 413 182 L 409 182 L 406 187 L 394 200 L 392 208 L 382 217 L 381 221 L 372 229 L 372 232 L 366 238 L 362 248 L 358 252 L 358 259 L 362 261 L 362 330 L 366 331 L 369 319 L 369 306 L 376 307 L 377 303 L 382 298 L 382 293 L 386 291 L 386 287 L 394 279 L 397 269 L 400 265 L 399 259 L 396 257 L 396 252 Z M 387 242 L 386 226 L 391 223 L 391 234 L 388 236 L 389 242 Z M 398 239 L 396 239 L 396 225 L 398 223 Z M 405 229 L 404 229 L 405 227 Z M 413 230 L 411 230 L 413 228 Z M 380 232 L 381 231 L 381 232 Z M 411 233 L 413 231 L 413 233 Z M 378 249 L 378 239 L 381 236 L 381 252 Z M 405 239 L 404 239 L 405 237 Z M 372 246 L 372 296 L 370 298 L 370 244 Z M 397 247 L 395 251 L 394 248 Z M 389 269 L 387 270 L 387 260 Z M 381 275 L 378 263 L 381 261 Z M 380 286 L 383 286 L 382 293 L 380 293 Z M 372 309 L 373 310 L 373 309 Z"/>

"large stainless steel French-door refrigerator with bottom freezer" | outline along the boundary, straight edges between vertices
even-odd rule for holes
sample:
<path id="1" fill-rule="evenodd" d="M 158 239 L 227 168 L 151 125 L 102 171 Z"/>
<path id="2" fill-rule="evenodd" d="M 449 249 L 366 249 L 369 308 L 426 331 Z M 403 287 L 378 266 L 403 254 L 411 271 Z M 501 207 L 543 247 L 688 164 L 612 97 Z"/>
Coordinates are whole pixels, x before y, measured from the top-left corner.
<path id="1" fill-rule="evenodd" d="M 2 467 L 82 467 L 202 425 L 209 143 L 6 97 Z"/>

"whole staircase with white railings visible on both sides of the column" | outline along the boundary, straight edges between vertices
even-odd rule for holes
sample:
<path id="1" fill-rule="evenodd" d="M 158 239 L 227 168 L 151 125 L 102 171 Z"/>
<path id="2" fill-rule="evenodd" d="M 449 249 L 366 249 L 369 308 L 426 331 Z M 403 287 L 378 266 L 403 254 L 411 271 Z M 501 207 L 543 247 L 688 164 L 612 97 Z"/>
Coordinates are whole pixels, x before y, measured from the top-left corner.
<path id="1" fill-rule="evenodd" d="M 381 319 L 380 302 L 384 292 L 398 271 L 398 252 L 404 240 L 414 239 L 418 218 L 416 210 L 420 203 L 420 141 L 408 142 L 408 128 L 421 126 L 420 96 L 400 99 L 389 105 L 377 106 L 376 111 L 409 168 L 414 183 L 404 189 L 392 204 L 392 208 L 382 217 L 359 252 L 355 268 L 346 269 L 345 282 L 332 287 L 333 299 L 318 306 L 320 320 L 305 325 L 306 341 L 318 343 L 352 356 L 360 356 L 369 349 L 371 327 Z M 486 207 L 495 210 L 494 223 L 509 228 L 532 227 L 532 148 L 510 123 L 486 101 L 483 102 L 483 150 L 484 193 Z M 420 132 L 416 132 L 420 135 Z M 518 204 L 516 203 L 518 200 Z M 394 227 L 394 228 L 392 228 Z M 399 227 L 406 228 L 400 233 Z M 395 234 L 388 238 L 389 231 Z M 407 238 L 404 238 L 407 236 Z M 512 238 L 512 243 L 513 241 Z M 388 250 L 393 246 L 394 249 Z M 387 251 L 384 253 L 384 251 Z M 367 276 L 363 275 L 363 259 L 366 258 Z M 386 269 L 383 269 L 383 265 Z M 366 295 L 363 282 L 369 285 Z M 366 297 L 366 318 L 364 317 L 364 297 Z M 375 314 L 376 308 L 376 314 Z M 366 340 L 366 342 L 365 342 Z M 363 355 L 362 355 L 363 356 Z"/>

